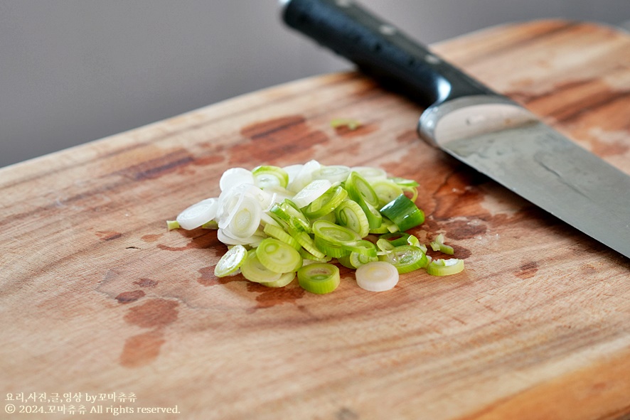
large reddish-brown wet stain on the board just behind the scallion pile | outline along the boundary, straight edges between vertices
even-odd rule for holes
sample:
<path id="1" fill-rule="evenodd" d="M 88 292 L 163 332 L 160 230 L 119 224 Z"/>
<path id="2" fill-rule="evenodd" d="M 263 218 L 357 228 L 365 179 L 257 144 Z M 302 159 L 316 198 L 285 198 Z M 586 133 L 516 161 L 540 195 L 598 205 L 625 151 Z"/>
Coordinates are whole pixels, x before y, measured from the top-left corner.
<path id="1" fill-rule="evenodd" d="M 290 115 L 250 124 L 240 134 L 249 142 L 237 144 L 230 156 L 230 164 L 271 162 L 279 156 L 309 154 L 311 147 L 329 141 L 323 131 L 311 129 L 301 115 Z"/>

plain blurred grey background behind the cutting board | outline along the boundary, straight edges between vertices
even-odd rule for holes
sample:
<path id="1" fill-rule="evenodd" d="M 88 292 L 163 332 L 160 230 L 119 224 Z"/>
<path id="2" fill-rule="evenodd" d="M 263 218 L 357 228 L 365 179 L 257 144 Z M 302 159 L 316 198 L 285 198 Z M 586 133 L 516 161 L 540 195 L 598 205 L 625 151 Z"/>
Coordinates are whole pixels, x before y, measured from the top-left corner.
<path id="1" fill-rule="evenodd" d="M 630 27 L 630 0 L 360 0 L 423 43 L 569 18 Z M 1 0 L 0 166 L 351 65 L 277 0 Z"/>

